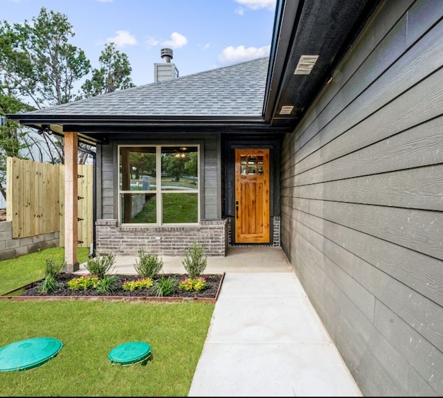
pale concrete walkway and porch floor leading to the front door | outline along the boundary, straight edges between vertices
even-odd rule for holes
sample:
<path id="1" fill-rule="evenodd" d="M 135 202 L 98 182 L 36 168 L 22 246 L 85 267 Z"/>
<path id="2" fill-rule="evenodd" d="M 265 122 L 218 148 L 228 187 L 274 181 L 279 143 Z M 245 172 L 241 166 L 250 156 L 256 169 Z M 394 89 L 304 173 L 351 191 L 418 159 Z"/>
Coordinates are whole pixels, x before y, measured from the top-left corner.
<path id="1" fill-rule="evenodd" d="M 116 257 L 116 272 L 135 273 L 136 258 Z M 162 259 L 185 273 L 183 257 Z M 281 248 L 208 257 L 204 273 L 223 272 L 190 397 L 362 396 Z"/>

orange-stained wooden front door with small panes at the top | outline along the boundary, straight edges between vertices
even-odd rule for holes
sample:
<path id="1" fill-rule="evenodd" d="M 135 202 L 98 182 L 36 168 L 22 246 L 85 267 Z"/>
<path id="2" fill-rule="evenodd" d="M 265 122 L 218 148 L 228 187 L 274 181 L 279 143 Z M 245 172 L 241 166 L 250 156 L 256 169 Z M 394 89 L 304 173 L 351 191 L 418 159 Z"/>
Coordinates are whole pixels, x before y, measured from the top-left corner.
<path id="1" fill-rule="evenodd" d="M 269 150 L 235 150 L 235 243 L 269 243 Z"/>

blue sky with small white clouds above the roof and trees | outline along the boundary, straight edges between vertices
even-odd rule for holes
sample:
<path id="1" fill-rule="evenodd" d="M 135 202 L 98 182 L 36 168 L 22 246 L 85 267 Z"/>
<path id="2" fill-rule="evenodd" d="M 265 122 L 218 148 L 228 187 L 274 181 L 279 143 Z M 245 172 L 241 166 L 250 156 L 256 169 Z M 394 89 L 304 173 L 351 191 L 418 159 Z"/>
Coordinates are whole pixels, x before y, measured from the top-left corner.
<path id="1" fill-rule="evenodd" d="M 32 21 L 42 7 L 68 17 L 70 43 L 93 67 L 116 43 L 140 86 L 154 82 L 161 48 L 172 48 L 180 76 L 269 55 L 275 0 L 0 0 L 0 20 Z"/>

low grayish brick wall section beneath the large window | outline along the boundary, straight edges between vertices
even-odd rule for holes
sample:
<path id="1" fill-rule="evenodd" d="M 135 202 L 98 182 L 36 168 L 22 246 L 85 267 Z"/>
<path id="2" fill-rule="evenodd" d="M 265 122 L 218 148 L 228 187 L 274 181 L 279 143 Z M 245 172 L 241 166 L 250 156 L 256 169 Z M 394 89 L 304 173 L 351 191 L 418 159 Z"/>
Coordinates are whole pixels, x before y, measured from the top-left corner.
<path id="1" fill-rule="evenodd" d="M 138 255 L 145 253 L 183 256 L 185 248 L 196 240 L 203 244 L 206 255 L 226 255 L 227 220 L 200 221 L 197 226 L 118 226 L 116 219 L 96 221 L 96 253 L 98 255 Z"/>

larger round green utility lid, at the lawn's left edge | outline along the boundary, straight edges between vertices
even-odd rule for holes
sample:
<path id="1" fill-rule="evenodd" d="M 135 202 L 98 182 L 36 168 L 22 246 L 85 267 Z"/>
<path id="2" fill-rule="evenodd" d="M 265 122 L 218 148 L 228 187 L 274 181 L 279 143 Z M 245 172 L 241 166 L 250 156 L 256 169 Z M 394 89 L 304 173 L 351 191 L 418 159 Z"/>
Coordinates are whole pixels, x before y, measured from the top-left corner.
<path id="1" fill-rule="evenodd" d="M 57 338 L 35 337 L 0 348 L 0 372 L 38 368 L 62 350 Z"/>

